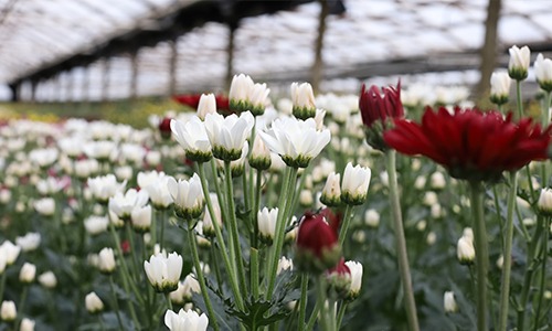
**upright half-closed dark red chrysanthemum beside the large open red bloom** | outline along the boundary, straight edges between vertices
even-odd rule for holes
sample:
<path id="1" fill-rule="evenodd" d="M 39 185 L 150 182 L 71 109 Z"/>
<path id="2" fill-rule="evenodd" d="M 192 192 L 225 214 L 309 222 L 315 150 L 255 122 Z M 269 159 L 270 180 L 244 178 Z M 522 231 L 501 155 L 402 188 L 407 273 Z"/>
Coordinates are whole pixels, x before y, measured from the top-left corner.
<path id="1" fill-rule="evenodd" d="M 362 85 L 359 108 L 365 127 L 367 142 L 378 150 L 386 150 L 383 132 L 391 126 L 388 119 L 404 116 L 401 82 L 396 84 L 396 87 L 383 87 L 381 90 L 375 85 L 367 90 L 367 86 Z"/>

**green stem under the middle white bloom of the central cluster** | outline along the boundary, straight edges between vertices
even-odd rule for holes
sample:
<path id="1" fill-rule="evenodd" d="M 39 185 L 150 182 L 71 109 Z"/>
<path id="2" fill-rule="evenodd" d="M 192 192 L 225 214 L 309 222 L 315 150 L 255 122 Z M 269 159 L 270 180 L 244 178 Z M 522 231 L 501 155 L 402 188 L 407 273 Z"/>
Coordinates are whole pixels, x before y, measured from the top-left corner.
<path id="1" fill-rule="evenodd" d="M 230 167 L 230 161 L 224 161 L 224 185 L 226 189 L 226 199 L 229 206 L 229 227 L 230 227 L 230 239 L 233 242 L 235 249 L 235 260 L 237 265 L 237 278 L 240 280 L 240 286 L 242 287 L 242 295 L 247 290 L 245 284 L 245 271 L 242 257 L 242 246 L 240 245 L 240 233 L 237 232 L 237 220 L 234 205 L 234 189 L 232 185 L 232 169 Z"/>

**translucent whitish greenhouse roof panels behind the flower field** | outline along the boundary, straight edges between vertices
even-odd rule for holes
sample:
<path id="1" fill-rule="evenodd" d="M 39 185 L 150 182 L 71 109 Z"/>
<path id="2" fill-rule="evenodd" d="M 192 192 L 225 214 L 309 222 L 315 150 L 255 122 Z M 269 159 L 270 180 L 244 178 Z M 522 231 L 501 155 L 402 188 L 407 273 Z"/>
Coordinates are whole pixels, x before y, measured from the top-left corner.
<path id="1" fill-rule="evenodd" d="M 234 71 L 256 81 L 308 79 L 320 8 L 316 2 L 279 11 L 284 7 L 269 4 L 282 1 L 0 0 L 0 84 L 55 76 L 65 70 L 61 83 L 46 81 L 38 86 L 39 98 L 47 99 L 59 93 L 60 86 L 74 85 L 71 95 L 62 98 L 78 99 L 85 85 L 89 88 L 87 97 L 97 99 L 105 82 L 100 58 L 107 56 L 108 96 L 125 98 L 131 77 L 128 54 L 139 49 L 137 93 L 163 95 L 170 79 L 168 41 L 178 36 L 177 89 L 221 88 L 229 34 L 224 8 L 235 2 L 242 6 L 236 10 L 240 24 Z M 478 66 L 477 50 L 482 44 L 487 14 L 485 0 L 343 3 L 343 14 L 327 19 L 323 60 L 328 78 L 468 71 Z M 253 9 L 255 4 L 265 7 Z M 193 15 L 183 14 L 194 8 L 198 11 Z M 502 62 L 512 44 L 549 51 L 550 22 L 549 0 L 503 0 L 499 22 Z M 170 33 L 160 35 L 159 31 Z M 85 77 L 89 81 L 86 84 Z"/>

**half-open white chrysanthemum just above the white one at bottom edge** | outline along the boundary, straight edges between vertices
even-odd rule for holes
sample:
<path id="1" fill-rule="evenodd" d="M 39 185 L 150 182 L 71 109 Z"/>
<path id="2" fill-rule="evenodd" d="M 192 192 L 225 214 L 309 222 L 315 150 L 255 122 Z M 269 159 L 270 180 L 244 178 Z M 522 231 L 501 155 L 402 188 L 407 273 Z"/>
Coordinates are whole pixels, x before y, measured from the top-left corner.
<path id="1" fill-rule="evenodd" d="M 182 256 L 177 253 L 171 253 L 169 256 L 152 255 L 149 261 L 144 261 L 144 269 L 156 291 L 171 292 L 178 289 L 182 273 Z"/>

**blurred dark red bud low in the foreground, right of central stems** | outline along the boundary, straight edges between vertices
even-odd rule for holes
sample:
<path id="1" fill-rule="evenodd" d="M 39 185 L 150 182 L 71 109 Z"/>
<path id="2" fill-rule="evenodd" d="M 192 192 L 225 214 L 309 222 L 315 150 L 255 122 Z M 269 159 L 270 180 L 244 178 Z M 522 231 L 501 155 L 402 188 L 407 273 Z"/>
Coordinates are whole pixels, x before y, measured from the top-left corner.
<path id="1" fill-rule="evenodd" d="M 341 257 L 337 232 L 339 222 L 333 214 L 329 214 L 329 210 L 325 211 L 306 213 L 299 224 L 295 265 L 300 270 L 319 274 L 336 266 Z"/>

